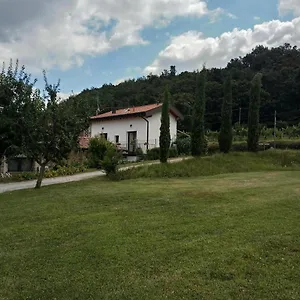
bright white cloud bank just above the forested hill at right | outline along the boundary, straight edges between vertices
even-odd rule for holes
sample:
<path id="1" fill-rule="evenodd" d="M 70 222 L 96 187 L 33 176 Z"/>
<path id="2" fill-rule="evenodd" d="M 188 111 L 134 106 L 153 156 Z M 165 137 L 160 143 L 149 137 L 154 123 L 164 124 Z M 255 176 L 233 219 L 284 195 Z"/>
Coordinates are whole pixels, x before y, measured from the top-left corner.
<path id="1" fill-rule="evenodd" d="M 223 67 L 230 59 L 243 56 L 258 45 L 276 47 L 284 43 L 300 46 L 300 18 L 290 22 L 265 22 L 247 30 L 235 28 L 216 38 L 188 31 L 172 37 L 170 44 L 144 72 L 159 74 L 170 65 L 176 65 L 178 71 L 200 69 L 203 64 Z"/>

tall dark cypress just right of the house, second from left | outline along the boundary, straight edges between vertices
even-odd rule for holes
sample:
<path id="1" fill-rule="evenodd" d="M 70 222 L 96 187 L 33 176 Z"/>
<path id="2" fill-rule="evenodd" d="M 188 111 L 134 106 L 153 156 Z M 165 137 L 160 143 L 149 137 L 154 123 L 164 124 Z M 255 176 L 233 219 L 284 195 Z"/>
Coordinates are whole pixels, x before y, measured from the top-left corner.
<path id="1" fill-rule="evenodd" d="M 191 134 L 191 152 L 194 156 L 204 155 L 207 151 L 205 137 L 204 114 L 206 105 L 206 76 L 207 70 L 197 74 L 196 99 L 193 111 L 193 126 Z"/>

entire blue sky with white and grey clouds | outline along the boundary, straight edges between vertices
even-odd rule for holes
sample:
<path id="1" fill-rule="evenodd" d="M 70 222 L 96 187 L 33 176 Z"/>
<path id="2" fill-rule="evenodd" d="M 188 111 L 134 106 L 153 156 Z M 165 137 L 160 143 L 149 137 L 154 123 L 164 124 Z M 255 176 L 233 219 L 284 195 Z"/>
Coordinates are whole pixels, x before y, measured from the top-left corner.
<path id="1" fill-rule="evenodd" d="M 0 61 L 61 97 L 160 74 L 224 67 L 256 47 L 300 47 L 300 0 L 0 0 Z"/>

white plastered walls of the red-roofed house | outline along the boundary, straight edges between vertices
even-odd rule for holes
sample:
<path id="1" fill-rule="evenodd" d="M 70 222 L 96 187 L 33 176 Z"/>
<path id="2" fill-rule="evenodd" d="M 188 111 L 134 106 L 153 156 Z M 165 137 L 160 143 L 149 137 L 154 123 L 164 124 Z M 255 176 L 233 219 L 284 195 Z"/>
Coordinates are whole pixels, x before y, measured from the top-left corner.
<path id="1" fill-rule="evenodd" d="M 155 112 L 147 119 L 149 120 L 149 149 L 159 147 L 161 112 Z M 106 133 L 107 139 L 115 142 L 116 136 L 119 136 L 119 142 L 122 146 L 127 145 L 128 132 L 130 131 L 137 132 L 137 146 L 146 151 L 147 122 L 143 118 L 115 118 L 111 120 L 93 120 L 91 122 L 91 137 Z M 170 114 L 170 134 L 171 139 L 174 140 L 177 134 L 177 121 L 172 114 Z"/>

